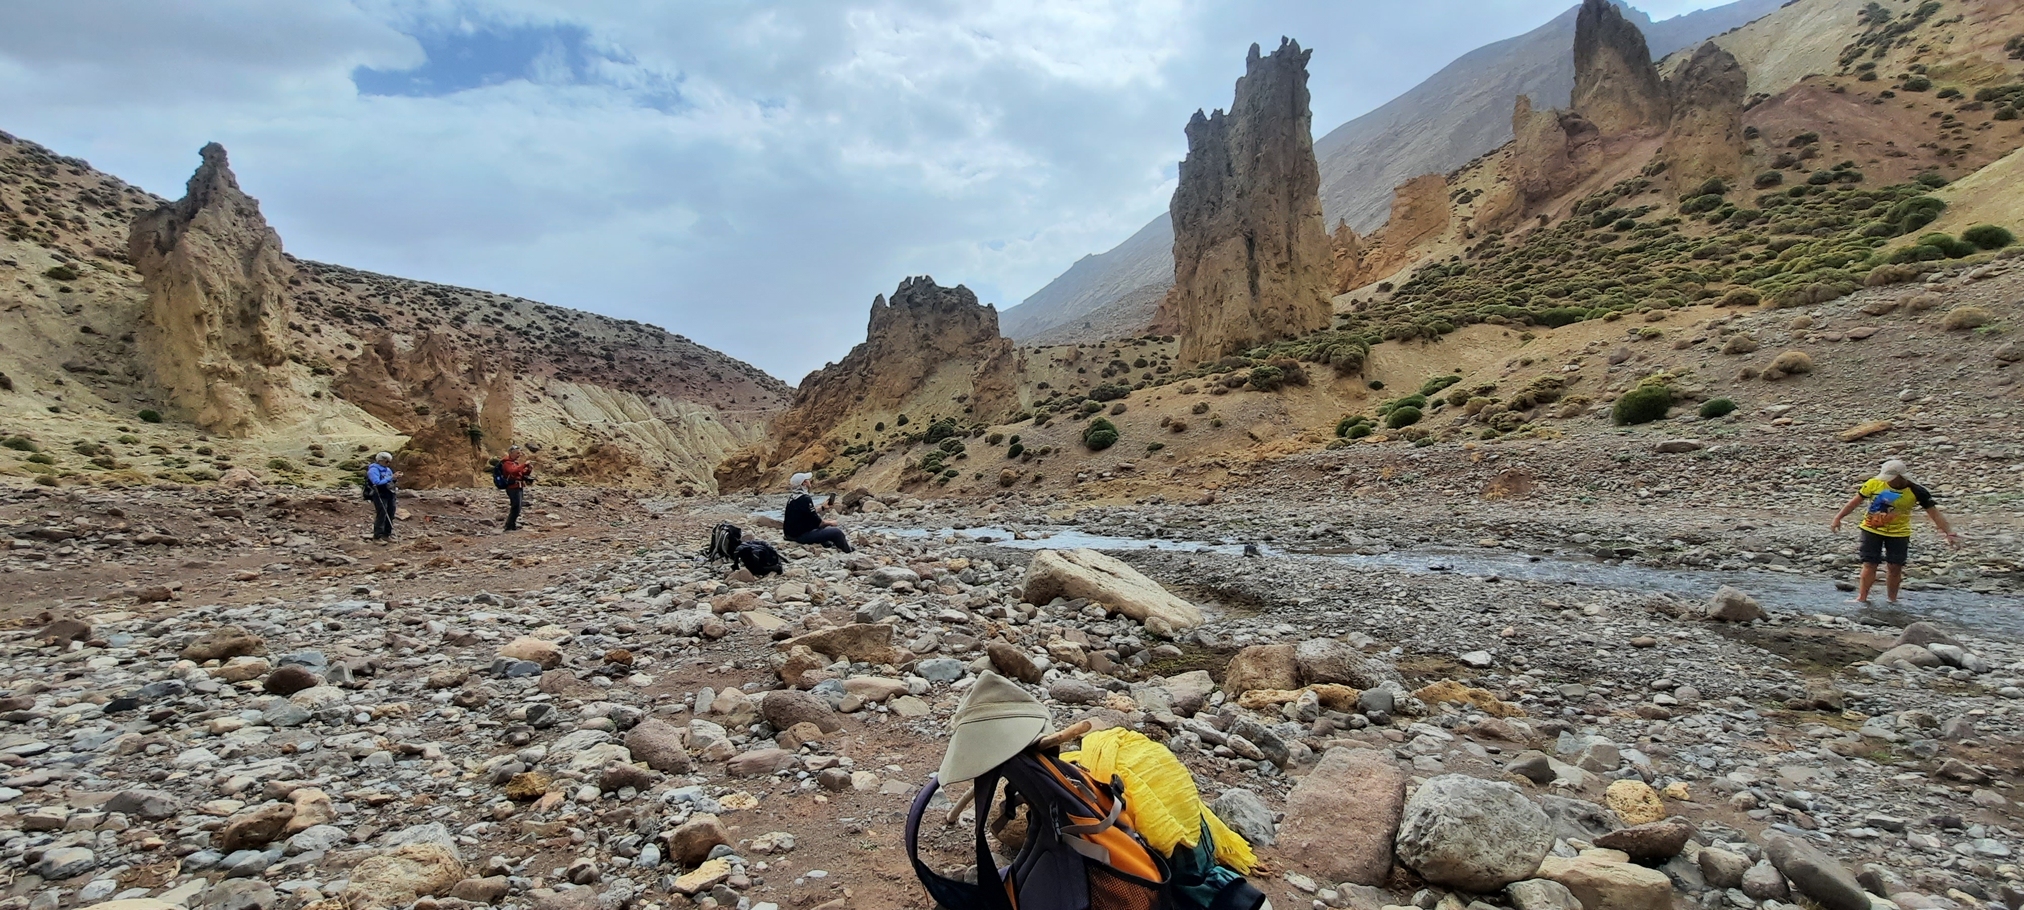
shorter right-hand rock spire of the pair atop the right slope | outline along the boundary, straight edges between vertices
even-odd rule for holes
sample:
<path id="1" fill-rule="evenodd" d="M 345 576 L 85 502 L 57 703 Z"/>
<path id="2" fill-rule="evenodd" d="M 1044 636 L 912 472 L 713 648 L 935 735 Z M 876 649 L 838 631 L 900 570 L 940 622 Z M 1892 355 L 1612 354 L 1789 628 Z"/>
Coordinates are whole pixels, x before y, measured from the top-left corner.
<path id="1" fill-rule="evenodd" d="M 1694 186 L 1708 178 L 1737 180 L 1743 176 L 1743 103 L 1749 77 L 1743 65 L 1716 42 L 1700 44 L 1672 79 L 1666 81 L 1672 121 L 1660 156 L 1676 186 Z"/>

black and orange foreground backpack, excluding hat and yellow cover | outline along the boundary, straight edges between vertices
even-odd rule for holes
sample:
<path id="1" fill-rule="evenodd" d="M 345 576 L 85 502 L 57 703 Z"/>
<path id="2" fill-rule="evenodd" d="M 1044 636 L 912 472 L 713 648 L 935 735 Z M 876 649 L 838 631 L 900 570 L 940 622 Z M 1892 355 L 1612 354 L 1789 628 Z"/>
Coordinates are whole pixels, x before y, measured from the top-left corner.
<path id="1" fill-rule="evenodd" d="M 1006 785 L 1000 823 L 992 801 Z M 1059 750 L 1028 748 L 976 781 L 978 880 L 961 882 L 921 861 L 921 815 L 939 783 L 907 813 L 907 859 L 935 902 L 949 910 L 1172 910 L 1168 861 L 1129 825 L 1123 781 L 1097 781 Z M 988 829 L 1022 815 L 1024 835 L 1004 870 L 992 857 Z"/>

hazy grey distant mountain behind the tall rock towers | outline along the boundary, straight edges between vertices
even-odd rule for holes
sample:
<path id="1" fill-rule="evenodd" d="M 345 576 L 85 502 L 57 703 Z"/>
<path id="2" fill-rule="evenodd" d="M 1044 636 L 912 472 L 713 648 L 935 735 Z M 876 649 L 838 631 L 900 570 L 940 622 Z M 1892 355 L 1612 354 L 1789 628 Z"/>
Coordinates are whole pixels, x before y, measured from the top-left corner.
<path id="1" fill-rule="evenodd" d="M 1799 6 L 1824 0 L 1805 0 Z M 1652 22 L 1625 10 L 1641 26 L 1656 55 L 1694 47 L 1779 8 L 1779 0 L 1733 4 Z M 1370 233 L 1384 222 L 1393 190 L 1421 174 L 1445 174 L 1510 142 L 1510 103 L 1530 95 L 1558 105 L 1575 85 L 1567 49 L 1575 40 L 1579 6 L 1550 22 L 1469 51 L 1382 107 L 1330 129 L 1314 142 L 1322 170 L 1322 214 Z M 1328 53 L 1324 49 L 1324 53 Z M 1318 91 L 1328 91 L 1320 87 Z M 1174 229 L 1166 214 L 1125 243 L 1083 257 L 1067 273 L 1006 309 L 1010 338 L 1063 344 L 1127 338 L 1152 317 L 1154 303 L 1174 277 Z M 1089 322 L 1089 328 L 1083 324 Z"/>

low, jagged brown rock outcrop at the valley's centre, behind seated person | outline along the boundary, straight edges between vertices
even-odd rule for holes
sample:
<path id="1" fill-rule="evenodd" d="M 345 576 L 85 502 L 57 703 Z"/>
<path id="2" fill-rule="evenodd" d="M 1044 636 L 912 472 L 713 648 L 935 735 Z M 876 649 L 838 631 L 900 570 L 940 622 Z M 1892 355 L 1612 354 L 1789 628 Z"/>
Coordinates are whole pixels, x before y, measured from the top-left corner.
<path id="1" fill-rule="evenodd" d="M 998 421 L 1018 404 L 1018 372 L 998 307 L 980 305 L 963 285 L 909 277 L 891 299 L 872 299 L 864 342 L 808 374 L 765 443 L 731 453 L 716 483 L 739 489 L 822 467 L 901 415 L 923 427 L 939 417 Z"/>

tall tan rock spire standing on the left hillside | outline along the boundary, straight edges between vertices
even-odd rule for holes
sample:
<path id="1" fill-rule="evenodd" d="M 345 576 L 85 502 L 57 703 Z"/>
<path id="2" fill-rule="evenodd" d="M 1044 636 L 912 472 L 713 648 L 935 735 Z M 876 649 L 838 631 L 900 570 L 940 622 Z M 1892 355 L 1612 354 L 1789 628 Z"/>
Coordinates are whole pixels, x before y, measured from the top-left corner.
<path id="1" fill-rule="evenodd" d="M 293 265 L 259 202 L 208 144 L 184 196 L 134 220 L 128 259 L 146 303 L 140 358 L 208 433 L 245 437 L 304 408 L 287 366 Z"/>

